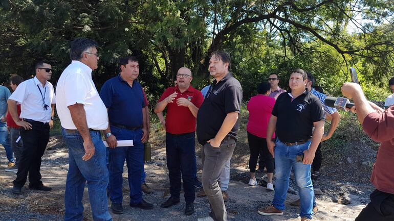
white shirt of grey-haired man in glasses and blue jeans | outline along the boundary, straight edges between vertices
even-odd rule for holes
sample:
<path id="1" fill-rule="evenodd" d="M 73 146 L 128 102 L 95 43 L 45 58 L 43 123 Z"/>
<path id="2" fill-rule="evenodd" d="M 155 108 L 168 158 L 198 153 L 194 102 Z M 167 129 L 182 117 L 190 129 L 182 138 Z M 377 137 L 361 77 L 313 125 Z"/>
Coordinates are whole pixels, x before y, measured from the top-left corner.
<path id="1" fill-rule="evenodd" d="M 61 126 L 76 130 L 68 106 L 83 104 L 87 127 L 105 130 L 108 127 L 108 114 L 96 86 L 92 80 L 92 69 L 80 61 L 72 61 L 63 70 L 56 86 L 56 108 Z"/>

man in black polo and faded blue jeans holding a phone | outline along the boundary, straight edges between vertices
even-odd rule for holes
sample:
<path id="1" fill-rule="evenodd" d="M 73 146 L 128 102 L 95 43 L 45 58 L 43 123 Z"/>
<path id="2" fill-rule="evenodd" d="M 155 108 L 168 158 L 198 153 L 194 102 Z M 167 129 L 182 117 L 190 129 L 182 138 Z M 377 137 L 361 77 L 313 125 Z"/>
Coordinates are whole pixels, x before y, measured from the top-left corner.
<path id="1" fill-rule="evenodd" d="M 301 220 L 312 219 L 314 193 L 311 164 L 323 136 L 324 111 L 319 99 L 305 88 L 307 82 L 304 70 L 293 70 L 289 80 L 291 90 L 278 96 L 272 110 L 267 136 L 271 137 L 276 129 L 278 139 L 276 143 L 267 140 L 267 145 L 275 159 L 275 195 L 271 206 L 258 210 L 261 215 L 283 214 L 290 172 L 294 167 L 301 201 Z"/>

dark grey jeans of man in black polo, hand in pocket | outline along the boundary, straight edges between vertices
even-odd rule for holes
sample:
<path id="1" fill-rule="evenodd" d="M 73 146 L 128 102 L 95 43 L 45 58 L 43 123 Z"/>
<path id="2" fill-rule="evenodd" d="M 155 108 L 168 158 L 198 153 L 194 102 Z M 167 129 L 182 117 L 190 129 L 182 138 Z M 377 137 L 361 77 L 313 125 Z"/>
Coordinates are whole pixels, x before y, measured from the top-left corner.
<path id="1" fill-rule="evenodd" d="M 210 143 L 203 146 L 203 189 L 207 194 L 212 218 L 215 221 L 228 220 L 222 191 L 217 180 L 220 178 L 226 162 L 231 159 L 235 145 L 235 140 L 226 137 L 219 148 L 214 148 Z"/>

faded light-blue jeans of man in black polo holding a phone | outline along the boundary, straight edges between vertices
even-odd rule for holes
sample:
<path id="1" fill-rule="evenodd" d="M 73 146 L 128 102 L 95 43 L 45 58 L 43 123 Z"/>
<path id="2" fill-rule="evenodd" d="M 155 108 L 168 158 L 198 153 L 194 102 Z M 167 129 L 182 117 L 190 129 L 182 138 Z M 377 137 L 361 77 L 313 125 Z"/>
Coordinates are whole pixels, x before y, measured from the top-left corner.
<path id="1" fill-rule="evenodd" d="M 275 144 L 275 195 L 272 201 L 276 209 L 284 210 L 284 201 L 286 200 L 287 191 L 289 189 L 289 179 L 292 167 L 294 167 L 294 177 L 298 185 L 301 217 L 312 218 L 313 204 L 313 185 L 311 180 L 311 165 L 296 162 L 297 155 L 303 155 L 303 151 L 309 149 L 311 141 L 301 145 L 288 146 L 279 139 Z"/>

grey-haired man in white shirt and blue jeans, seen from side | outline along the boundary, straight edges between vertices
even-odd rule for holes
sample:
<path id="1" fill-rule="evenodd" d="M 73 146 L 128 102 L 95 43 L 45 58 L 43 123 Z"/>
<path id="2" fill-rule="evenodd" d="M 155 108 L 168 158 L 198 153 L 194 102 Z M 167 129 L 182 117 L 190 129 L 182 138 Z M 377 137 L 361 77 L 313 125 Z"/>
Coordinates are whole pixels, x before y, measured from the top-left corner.
<path id="1" fill-rule="evenodd" d="M 69 148 L 64 221 L 82 220 L 86 181 L 93 220 L 112 220 L 106 195 L 106 148 L 100 134 L 108 127 L 108 116 L 92 80 L 99 60 L 96 47 L 91 39 L 75 39 L 70 50 L 72 62 L 61 73 L 56 87 L 57 113 Z"/>

